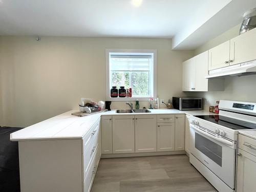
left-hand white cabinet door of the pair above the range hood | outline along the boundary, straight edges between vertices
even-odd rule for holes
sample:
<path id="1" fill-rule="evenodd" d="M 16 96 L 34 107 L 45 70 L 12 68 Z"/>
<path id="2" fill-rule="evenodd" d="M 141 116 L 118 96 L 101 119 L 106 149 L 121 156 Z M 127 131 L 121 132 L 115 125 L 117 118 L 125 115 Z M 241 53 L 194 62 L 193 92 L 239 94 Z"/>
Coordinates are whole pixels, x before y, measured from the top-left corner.
<path id="1" fill-rule="evenodd" d="M 209 70 L 219 69 L 229 66 L 230 41 L 209 50 Z"/>

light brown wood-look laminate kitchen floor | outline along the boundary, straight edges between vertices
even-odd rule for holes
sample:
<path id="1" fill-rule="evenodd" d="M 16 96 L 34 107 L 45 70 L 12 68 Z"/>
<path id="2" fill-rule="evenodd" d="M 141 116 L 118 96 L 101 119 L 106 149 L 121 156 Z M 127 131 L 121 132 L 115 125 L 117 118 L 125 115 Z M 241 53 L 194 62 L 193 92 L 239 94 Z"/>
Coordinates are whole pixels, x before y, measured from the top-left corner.
<path id="1" fill-rule="evenodd" d="M 186 155 L 101 159 L 91 192 L 215 192 Z"/>

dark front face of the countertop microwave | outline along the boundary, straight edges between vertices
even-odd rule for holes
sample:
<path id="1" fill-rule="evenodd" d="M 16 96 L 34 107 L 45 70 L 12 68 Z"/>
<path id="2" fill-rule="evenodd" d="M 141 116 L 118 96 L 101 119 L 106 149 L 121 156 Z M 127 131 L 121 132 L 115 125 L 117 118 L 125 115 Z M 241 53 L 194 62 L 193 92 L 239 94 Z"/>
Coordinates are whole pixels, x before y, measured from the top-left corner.
<path id="1" fill-rule="evenodd" d="M 201 98 L 180 98 L 180 110 L 201 110 Z"/>

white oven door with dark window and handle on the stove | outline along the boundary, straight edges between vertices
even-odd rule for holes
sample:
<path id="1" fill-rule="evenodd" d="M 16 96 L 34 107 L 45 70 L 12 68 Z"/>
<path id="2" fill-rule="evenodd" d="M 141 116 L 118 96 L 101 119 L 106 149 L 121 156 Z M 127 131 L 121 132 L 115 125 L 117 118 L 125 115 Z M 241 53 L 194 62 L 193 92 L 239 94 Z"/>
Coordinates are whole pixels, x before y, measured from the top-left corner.
<path id="1" fill-rule="evenodd" d="M 190 123 L 190 153 L 234 189 L 236 142 Z"/>

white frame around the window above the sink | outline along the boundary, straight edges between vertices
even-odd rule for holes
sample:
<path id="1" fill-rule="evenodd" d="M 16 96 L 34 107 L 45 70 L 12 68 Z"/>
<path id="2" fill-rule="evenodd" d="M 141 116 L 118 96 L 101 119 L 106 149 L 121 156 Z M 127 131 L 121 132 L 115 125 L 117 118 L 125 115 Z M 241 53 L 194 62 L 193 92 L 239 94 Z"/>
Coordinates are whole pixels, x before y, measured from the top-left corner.
<path id="1" fill-rule="evenodd" d="M 106 100 L 108 101 L 147 101 L 153 97 L 110 97 L 110 53 L 152 53 L 153 54 L 153 96 L 157 98 L 157 50 L 155 49 L 105 49 Z M 117 88 L 119 89 L 119 88 Z"/>

